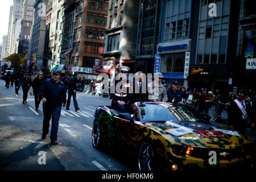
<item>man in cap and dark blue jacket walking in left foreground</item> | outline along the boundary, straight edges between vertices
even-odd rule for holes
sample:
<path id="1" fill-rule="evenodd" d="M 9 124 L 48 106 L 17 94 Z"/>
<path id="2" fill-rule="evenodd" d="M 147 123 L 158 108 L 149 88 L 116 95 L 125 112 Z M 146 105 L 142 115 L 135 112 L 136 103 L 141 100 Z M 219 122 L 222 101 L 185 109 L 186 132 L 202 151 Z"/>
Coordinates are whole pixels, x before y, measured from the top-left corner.
<path id="1" fill-rule="evenodd" d="M 57 143 L 57 131 L 59 127 L 59 119 L 61 113 L 61 105 L 65 107 L 66 104 L 66 92 L 65 85 L 60 80 L 60 72 L 53 71 L 52 78 L 47 79 L 43 82 L 39 89 L 39 96 L 43 102 L 43 134 L 42 138 L 45 139 L 49 133 L 49 121 L 52 118 L 51 128 L 51 143 Z"/>

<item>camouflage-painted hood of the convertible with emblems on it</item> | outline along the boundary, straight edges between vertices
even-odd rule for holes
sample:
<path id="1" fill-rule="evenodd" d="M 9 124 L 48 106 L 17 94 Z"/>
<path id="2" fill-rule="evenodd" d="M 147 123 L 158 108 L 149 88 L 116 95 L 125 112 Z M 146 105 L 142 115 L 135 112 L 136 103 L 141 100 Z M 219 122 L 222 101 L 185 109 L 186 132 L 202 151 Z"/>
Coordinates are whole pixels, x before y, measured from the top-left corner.
<path id="1" fill-rule="evenodd" d="M 200 122 L 142 122 L 142 125 L 162 135 L 171 144 L 233 148 L 253 142 L 238 131 Z"/>

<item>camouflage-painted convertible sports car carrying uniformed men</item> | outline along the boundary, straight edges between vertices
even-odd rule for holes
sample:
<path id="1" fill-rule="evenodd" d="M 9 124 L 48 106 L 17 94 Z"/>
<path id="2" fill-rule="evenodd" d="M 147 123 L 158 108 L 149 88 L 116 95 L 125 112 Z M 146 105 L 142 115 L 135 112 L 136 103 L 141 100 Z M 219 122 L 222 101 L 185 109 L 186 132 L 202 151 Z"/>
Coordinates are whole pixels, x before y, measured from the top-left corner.
<path id="1" fill-rule="evenodd" d="M 253 141 L 210 123 L 189 105 L 136 102 L 134 114 L 98 106 L 92 144 L 121 149 L 141 171 L 253 166 Z"/>

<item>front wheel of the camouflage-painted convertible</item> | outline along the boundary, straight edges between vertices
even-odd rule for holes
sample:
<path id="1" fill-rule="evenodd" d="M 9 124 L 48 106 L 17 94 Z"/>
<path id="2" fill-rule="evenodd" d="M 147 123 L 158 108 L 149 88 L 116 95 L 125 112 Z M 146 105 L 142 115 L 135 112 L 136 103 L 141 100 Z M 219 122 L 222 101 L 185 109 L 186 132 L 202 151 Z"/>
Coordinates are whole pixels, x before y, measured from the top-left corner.
<path id="1" fill-rule="evenodd" d="M 138 152 L 138 169 L 139 171 L 153 171 L 154 169 L 154 150 L 151 144 L 143 142 Z"/>

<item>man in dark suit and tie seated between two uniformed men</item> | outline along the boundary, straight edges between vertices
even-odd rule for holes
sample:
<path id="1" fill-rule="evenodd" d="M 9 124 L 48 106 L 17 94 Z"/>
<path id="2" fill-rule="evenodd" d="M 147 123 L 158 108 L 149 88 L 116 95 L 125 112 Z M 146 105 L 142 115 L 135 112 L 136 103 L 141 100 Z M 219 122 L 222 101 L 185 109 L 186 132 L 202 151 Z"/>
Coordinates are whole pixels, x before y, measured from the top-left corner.
<path id="1" fill-rule="evenodd" d="M 142 72 L 137 72 L 133 82 L 133 103 L 146 101 L 148 101 L 146 75 Z"/>

